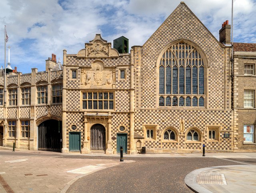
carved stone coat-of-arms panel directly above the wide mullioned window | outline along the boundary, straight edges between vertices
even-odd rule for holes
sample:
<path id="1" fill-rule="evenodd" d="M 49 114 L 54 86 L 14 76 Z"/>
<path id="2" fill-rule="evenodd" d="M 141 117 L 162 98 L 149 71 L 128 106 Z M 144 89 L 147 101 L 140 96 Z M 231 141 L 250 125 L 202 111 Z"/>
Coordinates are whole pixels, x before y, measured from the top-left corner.
<path id="1" fill-rule="evenodd" d="M 93 88 L 114 88 L 115 69 L 105 68 L 102 61 L 95 61 L 91 68 L 81 68 L 81 87 Z"/>

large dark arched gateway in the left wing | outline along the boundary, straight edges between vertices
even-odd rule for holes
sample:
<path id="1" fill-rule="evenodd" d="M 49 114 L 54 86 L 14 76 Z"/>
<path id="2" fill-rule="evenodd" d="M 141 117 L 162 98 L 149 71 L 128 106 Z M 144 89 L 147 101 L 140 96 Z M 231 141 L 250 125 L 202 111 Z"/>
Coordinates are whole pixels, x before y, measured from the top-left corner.
<path id="1" fill-rule="evenodd" d="M 45 120 L 38 125 L 38 150 L 58 151 L 62 148 L 62 122 Z"/>

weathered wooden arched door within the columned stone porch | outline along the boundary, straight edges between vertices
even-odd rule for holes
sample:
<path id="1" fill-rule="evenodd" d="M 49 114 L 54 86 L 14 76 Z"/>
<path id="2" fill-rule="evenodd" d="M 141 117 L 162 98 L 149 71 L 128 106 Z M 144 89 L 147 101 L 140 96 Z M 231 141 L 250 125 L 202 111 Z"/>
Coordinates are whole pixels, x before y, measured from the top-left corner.
<path id="1" fill-rule="evenodd" d="M 90 137 L 91 150 L 106 150 L 106 130 L 101 124 L 91 127 Z"/>

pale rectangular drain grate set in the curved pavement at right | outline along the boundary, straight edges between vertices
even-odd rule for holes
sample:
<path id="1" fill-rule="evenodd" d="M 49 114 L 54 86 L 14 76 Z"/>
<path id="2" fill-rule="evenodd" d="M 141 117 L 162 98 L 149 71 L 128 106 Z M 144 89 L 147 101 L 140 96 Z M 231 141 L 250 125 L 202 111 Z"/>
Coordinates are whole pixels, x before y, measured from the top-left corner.
<path id="1" fill-rule="evenodd" d="M 227 185 L 224 174 L 222 173 L 200 173 L 196 177 L 198 184 L 223 184 Z"/>

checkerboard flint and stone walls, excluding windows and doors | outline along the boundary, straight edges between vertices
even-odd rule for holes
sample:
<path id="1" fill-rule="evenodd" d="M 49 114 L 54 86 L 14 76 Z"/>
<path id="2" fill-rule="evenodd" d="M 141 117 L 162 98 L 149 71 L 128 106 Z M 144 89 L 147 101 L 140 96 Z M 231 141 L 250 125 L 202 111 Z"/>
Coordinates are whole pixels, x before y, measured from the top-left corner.
<path id="1" fill-rule="evenodd" d="M 203 58 L 204 107 L 158 104 L 160 57 L 168 47 L 180 41 L 196 47 Z M 143 146 L 147 153 L 200 152 L 202 144 L 206 151 L 233 152 L 242 147 L 238 144 L 242 133 L 237 128 L 241 121 L 234 116 L 231 106 L 230 56 L 230 46 L 218 42 L 181 2 L 144 45 L 133 46 L 130 54 L 119 54 L 111 48 L 111 43 L 96 34 L 77 54 L 67 54 L 64 50 L 63 70 L 38 73 L 37 69 L 32 69 L 31 75 L 8 76 L 8 87 L 31 85 L 33 100 L 36 100 L 36 85 L 48 84 L 50 96 L 52 85 L 62 84 L 63 100 L 62 104 L 52 104 L 48 97 L 47 104 L 36 105 L 34 101 L 30 106 L 7 106 L 7 120 L 30 120 L 30 136 L 35 140 L 36 126 L 42 121 L 62 120 L 62 152 L 70 151 L 70 132 L 78 132 L 81 152 L 89 153 L 95 124 L 104 127 L 106 154 L 117 153 L 119 134 L 127 135 L 128 154 L 140 153 Z M 120 70 L 125 71 L 125 79 L 120 78 Z M 72 71 L 76 77 L 72 77 Z M 2 77 L 0 85 L 4 85 Z M 113 92 L 114 108 L 84 108 L 83 92 Z M 235 103 L 243 102 L 241 100 L 243 98 L 235 98 Z M 4 108 L 0 108 L 0 116 L 4 117 Z M 75 130 L 72 125 L 76 126 Z M 120 126 L 124 130 L 120 130 Z M 147 136 L 148 129 L 154 132 L 152 138 Z M 168 129 L 174 131 L 175 140 L 164 140 Z M 198 132 L 198 141 L 187 140 L 191 130 Z M 216 131 L 215 140 L 209 140 L 209 130 Z M 12 139 L 6 141 L 7 145 L 12 144 Z M 27 147 L 36 148 L 36 141 L 29 143 Z"/>

